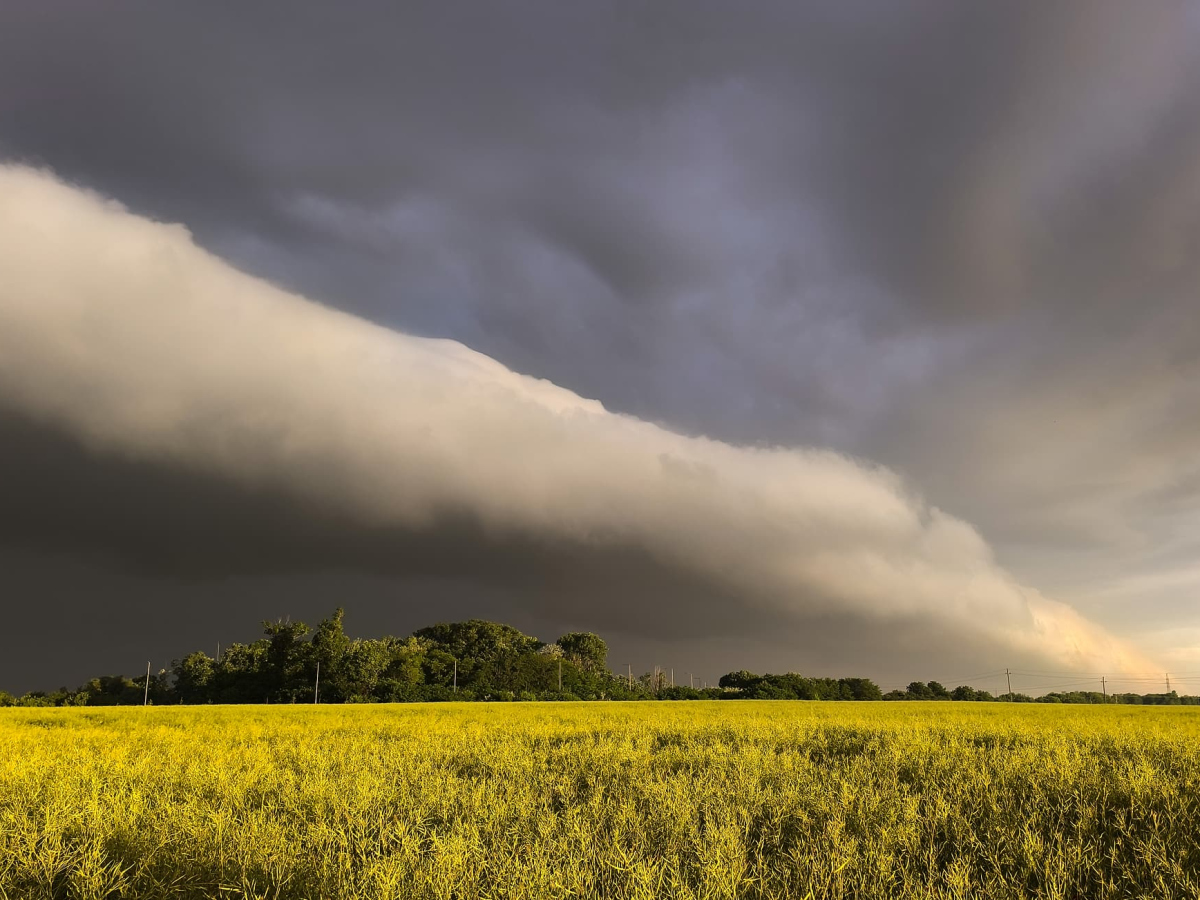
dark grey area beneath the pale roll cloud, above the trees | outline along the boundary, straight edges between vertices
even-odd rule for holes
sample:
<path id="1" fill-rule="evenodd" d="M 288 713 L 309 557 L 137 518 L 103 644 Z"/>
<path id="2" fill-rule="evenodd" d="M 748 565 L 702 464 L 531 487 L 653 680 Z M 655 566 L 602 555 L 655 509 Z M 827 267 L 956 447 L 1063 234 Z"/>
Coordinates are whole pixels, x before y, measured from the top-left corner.
<path id="1" fill-rule="evenodd" d="M 636 547 L 499 539 L 468 518 L 368 528 L 282 494 L 92 454 L 14 414 L 0 415 L 0 469 L 8 690 L 131 672 L 148 654 L 166 666 L 252 640 L 263 618 L 313 623 L 337 605 L 361 635 L 474 616 L 544 640 L 595 630 L 614 667 L 678 661 L 680 677 L 709 680 L 745 667 L 899 677 L 948 643 L 961 649 L 940 667 L 978 667 L 931 619 L 797 619 Z"/>

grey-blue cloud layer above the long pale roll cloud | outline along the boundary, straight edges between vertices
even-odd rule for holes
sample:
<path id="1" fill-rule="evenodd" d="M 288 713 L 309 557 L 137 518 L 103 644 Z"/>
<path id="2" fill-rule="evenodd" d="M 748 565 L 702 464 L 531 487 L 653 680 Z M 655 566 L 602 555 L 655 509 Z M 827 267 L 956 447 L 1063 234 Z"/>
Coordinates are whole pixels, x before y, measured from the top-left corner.
<path id="1" fill-rule="evenodd" d="M 1194 524 L 1195 22 L 11 4 L 0 152 L 608 408 L 880 460 L 1087 608 Z"/>

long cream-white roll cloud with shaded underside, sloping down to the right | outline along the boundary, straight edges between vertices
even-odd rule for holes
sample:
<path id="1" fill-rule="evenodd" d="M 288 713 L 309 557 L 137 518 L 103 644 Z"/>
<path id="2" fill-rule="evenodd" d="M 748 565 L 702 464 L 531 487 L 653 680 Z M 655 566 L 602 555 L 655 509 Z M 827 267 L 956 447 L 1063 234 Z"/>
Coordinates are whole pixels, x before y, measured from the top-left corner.
<path id="1" fill-rule="evenodd" d="M 943 649 L 1150 667 L 1016 583 L 967 523 L 886 468 L 607 412 L 457 342 L 278 289 L 186 229 L 49 174 L 0 170 L 0 270 L 12 445 L 68 436 L 84 450 L 58 452 L 104 460 L 114 479 L 203 485 L 190 508 L 212 517 L 194 541 L 156 542 L 151 503 L 131 534 L 104 534 L 94 484 L 47 475 L 55 512 L 24 516 L 26 540 L 176 574 L 452 575 L 521 588 L 551 612 L 606 604 L 613 620 L 638 617 L 641 634 L 786 636 L 836 622 L 822 641 L 850 648 L 853 623 L 928 623 Z M 212 540 L 245 503 L 265 536 Z"/>

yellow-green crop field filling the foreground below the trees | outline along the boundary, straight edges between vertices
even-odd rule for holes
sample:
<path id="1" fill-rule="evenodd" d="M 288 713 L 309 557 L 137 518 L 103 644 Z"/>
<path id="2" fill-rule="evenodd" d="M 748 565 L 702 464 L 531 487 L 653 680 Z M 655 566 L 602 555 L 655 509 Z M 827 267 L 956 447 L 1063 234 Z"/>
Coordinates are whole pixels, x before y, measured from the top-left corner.
<path id="1" fill-rule="evenodd" d="M 0 898 L 1195 898 L 1200 713 L 0 710 Z"/>

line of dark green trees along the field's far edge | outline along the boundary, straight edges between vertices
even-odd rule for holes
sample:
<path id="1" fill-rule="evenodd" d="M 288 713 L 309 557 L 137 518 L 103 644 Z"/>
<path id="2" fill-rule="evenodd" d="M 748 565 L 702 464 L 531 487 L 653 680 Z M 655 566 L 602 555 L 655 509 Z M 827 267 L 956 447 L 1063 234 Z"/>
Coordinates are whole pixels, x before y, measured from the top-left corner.
<path id="1" fill-rule="evenodd" d="M 721 677 L 719 686 L 676 685 L 667 670 L 641 676 L 608 670 L 608 648 L 587 631 L 544 643 L 482 619 L 432 625 L 408 637 L 350 638 L 338 608 L 316 629 L 264 622 L 252 643 L 232 643 L 216 658 L 190 653 L 149 677 L 101 676 L 74 690 L 0 691 L 0 706 L 137 706 L 175 703 L 397 703 L 512 700 L 959 700 L 1042 703 L 1200 704 L 1171 694 L 1072 691 L 992 696 L 970 686 L 948 690 L 913 682 L 884 694 L 869 678 L 754 674 Z"/>

